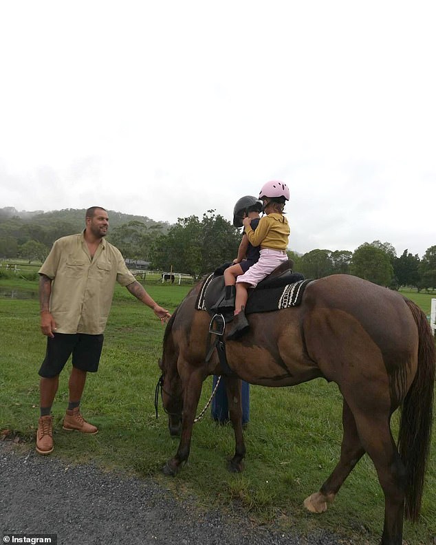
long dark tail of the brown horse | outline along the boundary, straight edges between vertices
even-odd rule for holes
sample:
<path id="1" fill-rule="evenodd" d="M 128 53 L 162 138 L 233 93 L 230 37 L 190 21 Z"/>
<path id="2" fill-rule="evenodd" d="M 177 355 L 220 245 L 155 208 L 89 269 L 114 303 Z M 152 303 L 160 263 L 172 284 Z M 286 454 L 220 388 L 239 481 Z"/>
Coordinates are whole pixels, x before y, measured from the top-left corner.
<path id="1" fill-rule="evenodd" d="M 404 514 L 409 520 L 416 521 L 421 509 L 424 475 L 430 451 L 435 341 L 424 312 L 412 301 L 405 301 L 418 328 L 419 345 L 417 373 L 402 403 L 398 450 L 407 472 Z"/>

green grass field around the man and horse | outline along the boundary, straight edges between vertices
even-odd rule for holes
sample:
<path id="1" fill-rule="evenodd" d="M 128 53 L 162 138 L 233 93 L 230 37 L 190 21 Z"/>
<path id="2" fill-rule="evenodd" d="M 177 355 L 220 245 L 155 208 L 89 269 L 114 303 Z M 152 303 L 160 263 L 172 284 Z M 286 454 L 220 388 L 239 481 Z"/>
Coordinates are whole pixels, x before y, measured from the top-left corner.
<path id="1" fill-rule="evenodd" d="M 170 310 L 190 287 L 146 284 L 152 297 Z M 0 279 L 0 290 L 30 296 L 36 294 L 37 282 Z M 405 295 L 424 310 L 427 304 L 430 309 L 431 295 Z M 1 298 L 0 324 L 0 431 L 8 429 L 9 437 L 18 436 L 17 449 L 25 451 L 34 448 L 39 416 L 37 371 L 45 352 L 37 299 Z M 259 524 L 302 533 L 326 529 L 349 537 L 353 544 L 379 542 L 384 499 L 367 456 L 351 473 L 329 511 L 311 515 L 303 507 L 303 500 L 319 489 L 340 453 L 341 396 L 336 385 L 321 379 L 292 388 L 251 387 L 246 469 L 241 475 L 226 471 L 226 460 L 234 450 L 232 429 L 215 425 L 207 414 L 195 425 L 188 464 L 176 478 L 164 477 L 162 466 L 178 443 L 168 434 L 162 408 L 155 418 L 155 384 L 160 376 L 157 359 L 163 333 L 153 313 L 117 286 L 100 370 L 89 375 L 82 403 L 85 417 L 98 425 L 100 433 L 89 437 L 62 431 L 68 397 L 68 372 L 63 372 L 53 407 L 52 456 L 69 463 L 92 462 L 108 471 L 152 476 L 176 496 L 196 498 L 199 509 L 242 509 Z M 210 391 L 208 378 L 199 410 Z M 396 415 L 393 420 L 395 427 Z M 422 520 L 404 524 L 408 545 L 430 544 L 436 536 L 435 462 L 433 441 Z"/>

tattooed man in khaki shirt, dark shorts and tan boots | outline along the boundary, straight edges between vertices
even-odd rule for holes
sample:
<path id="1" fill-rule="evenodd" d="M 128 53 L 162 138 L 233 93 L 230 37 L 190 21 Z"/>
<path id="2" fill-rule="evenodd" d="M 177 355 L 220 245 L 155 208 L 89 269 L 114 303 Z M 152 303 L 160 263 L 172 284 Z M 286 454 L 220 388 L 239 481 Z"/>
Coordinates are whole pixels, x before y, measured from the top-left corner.
<path id="1" fill-rule="evenodd" d="M 47 336 L 47 351 L 39 370 L 41 416 L 36 433 L 36 451 L 53 451 L 51 409 L 59 374 L 72 354 L 69 403 L 63 429 L 96 434 L 98 428 L 80 414 L 80 398 L 87 372 L 96 372 L 103 332 L 111 308 L 116 281 L 162 321 L 168 310 L 157 305 L 127 269 L 120 251 L 105 240 L 109 228 L 107 211 L 91 206 L 86 211 L 83 233 L 62 237 L 39 270 L 41 331 Z"/>

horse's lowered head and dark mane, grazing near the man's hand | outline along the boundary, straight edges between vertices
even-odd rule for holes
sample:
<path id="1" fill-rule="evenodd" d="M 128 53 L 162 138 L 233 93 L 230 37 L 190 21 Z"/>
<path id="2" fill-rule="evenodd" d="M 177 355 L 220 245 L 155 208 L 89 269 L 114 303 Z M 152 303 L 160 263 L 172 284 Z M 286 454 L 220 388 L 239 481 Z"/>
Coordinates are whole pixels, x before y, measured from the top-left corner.
<path id="1" fill-rule="evenodd" d="M 156 385 L 155 409 L 157 414 L 157 403 L 160 392 L 164 411 L 168 414 L 168 429 L 170 434 L 171 436 L 179 436 L 182 431 L 183 388 L 177 370 L 178 350 L 176 350 L 171 334 L 174 319 L 175 312 L 168 321 L 164 334 L 162 359 L 159 360 L 159 367 L 162 374 Z"/>

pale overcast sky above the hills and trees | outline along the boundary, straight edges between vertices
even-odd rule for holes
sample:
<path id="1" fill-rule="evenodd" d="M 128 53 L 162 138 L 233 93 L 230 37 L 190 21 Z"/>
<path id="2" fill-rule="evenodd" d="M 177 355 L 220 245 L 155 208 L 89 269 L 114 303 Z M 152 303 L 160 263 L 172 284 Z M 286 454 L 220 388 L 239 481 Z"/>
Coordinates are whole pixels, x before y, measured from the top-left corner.
<path id="1" fill-rule="evenodd" d="M 290 249 L 436 244 L 436 4 L 0 0 L 0 207 L 176 222 L 270 179 Z"/>

